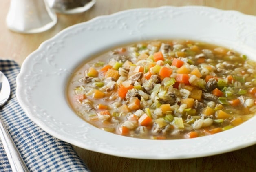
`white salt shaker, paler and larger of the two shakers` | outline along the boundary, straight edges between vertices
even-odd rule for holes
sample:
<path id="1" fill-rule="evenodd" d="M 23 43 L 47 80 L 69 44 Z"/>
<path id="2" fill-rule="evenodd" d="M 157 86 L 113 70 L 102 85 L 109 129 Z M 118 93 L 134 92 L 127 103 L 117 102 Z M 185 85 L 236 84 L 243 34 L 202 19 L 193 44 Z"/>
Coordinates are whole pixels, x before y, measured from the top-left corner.
<path id="1" fill-rule="evenodd" d="M 46 0 L 11 0 L 7 13 L 7 27 L 19 33 L 39 33 L 57 23 L 57 15 Z"/>

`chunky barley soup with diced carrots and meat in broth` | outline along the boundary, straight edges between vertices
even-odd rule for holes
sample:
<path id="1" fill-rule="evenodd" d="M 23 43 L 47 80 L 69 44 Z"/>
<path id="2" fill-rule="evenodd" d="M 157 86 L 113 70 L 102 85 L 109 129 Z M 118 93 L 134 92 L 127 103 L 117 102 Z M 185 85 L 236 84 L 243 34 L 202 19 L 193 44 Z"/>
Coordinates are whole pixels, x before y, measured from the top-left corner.
<path id="1" fill-rule="evenodd" d="M 256 62 L 203 42 L 139 42 L 77 68 L 67 97 L 82 119 L 115 134 L 143 139 L 212 135 L 254 116 Z"/>

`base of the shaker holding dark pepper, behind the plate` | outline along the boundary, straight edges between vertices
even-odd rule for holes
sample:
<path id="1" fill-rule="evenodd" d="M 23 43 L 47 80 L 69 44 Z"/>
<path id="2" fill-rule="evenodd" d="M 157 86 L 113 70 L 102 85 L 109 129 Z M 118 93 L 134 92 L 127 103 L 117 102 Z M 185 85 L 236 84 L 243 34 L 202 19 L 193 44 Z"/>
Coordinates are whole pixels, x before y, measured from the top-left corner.
<path id="1" fill-rule="evenodd" d="M 57 13 L 74 14 L 90 9 L 96 0 L 48 0 L 48 2 Z"/>

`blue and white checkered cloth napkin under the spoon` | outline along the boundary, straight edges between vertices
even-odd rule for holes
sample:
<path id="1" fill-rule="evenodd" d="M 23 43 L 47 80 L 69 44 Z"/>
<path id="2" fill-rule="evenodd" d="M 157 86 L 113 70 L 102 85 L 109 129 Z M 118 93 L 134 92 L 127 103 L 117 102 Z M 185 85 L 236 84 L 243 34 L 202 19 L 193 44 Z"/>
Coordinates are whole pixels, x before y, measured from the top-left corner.
<path id="1" fill-rule="evenodd" d="M 0 108 L 0 117 L 29 171 L 89 172 L 69 143 L 44 132 L 26 116 L 18 104 L 15 90 L 20 66 L 11 60 L 0 60 L 0 71 L 6 75 L 11 85 L 9 101 Z M 11 166 L 0 141 L 0 172 L 3 171 L 11 171 Z"/>

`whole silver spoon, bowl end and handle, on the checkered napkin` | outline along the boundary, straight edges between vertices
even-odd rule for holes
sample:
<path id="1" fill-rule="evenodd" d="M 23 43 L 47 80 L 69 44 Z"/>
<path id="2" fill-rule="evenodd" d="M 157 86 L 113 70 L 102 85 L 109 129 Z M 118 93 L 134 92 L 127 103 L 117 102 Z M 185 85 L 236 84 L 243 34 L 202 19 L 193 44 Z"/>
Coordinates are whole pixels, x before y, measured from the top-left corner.
<path id="1" fill-rule="evenodd" d="M 0 107 L 4 105 L 4 103 L 8 100 L 10 96 L 10 84 L 8 82 L 7 77 L 0 71 Z M 4 146 L 4 150 L 6 152 L 7 158 L 11 165 L 11 169 L 13 172 L 29 172 L 24 163 L 22 157 L 20 156 L 20 152 L 16 148 L 13 140 L 4 126 L 2 119 L 0 118 L 0 139 Z"/>

